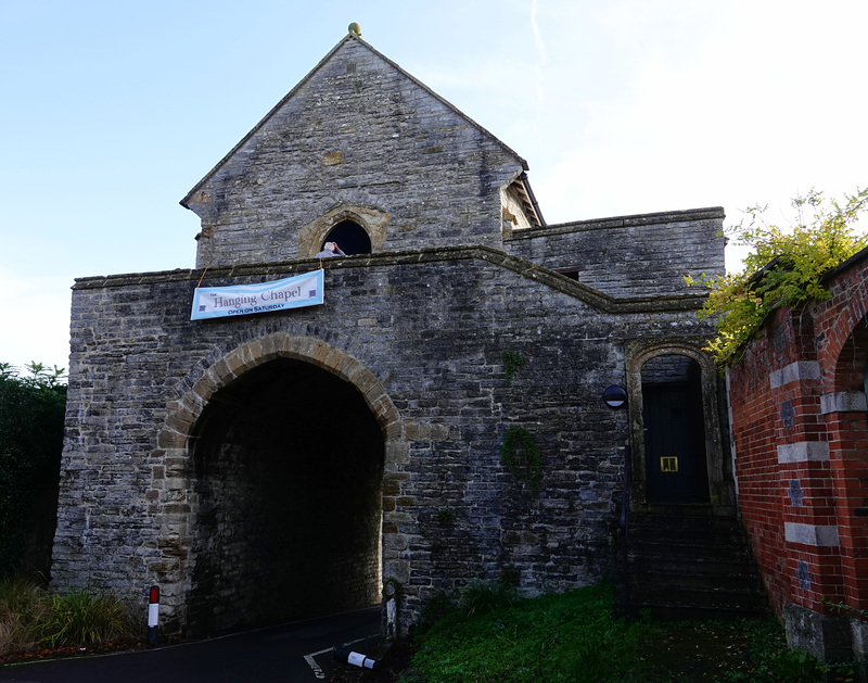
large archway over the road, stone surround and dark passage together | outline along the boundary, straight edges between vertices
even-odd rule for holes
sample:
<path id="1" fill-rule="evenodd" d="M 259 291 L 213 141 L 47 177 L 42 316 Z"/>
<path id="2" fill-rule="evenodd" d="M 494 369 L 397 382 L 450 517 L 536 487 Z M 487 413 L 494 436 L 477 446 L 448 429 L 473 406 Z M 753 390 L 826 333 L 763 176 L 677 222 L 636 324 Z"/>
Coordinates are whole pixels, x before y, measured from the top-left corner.
<path id="1" fill-rule="evenodd" d="M 149 493 L 161 502 L 151 569 L 170 630 L 380 599 L 384 472 L 408 448 L 370 371 L 322 341 L 276 333 L 216 361 L 174 407 Z"/>

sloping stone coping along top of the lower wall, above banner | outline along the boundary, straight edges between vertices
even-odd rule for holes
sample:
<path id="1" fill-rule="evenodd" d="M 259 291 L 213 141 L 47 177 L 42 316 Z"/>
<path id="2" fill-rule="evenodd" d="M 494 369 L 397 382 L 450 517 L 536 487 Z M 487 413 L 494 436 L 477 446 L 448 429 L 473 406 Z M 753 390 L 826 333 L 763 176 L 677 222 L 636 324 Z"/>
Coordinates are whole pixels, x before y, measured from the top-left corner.
<path id="1" fill-rule="evenodd" d="M 539 266 L 525 258 L 507 254 L 486 246 L 438 246 L 408 252 L 381 252 L 356 256 L 326 260 L 302 258 L 281 263 L 258 263 L 234 266 L 209 266 L 207 268 L 178 268 L 154 273 L 130 273 L 124 275 L 76 278 L 73 290 L 106 289 L 137 284 L 162 284 L 168 282 L 194 281 L 208 287 L 213 280 L 244 278 L 254 276 L 288 277 L 295 273 L 306 273 L 322 267 L 326 270 L 345 268 L 369 268 L 422 263 L 480 260 L 500 266 L 535 280 L 605 313 L 647 313 L 659 311 L 695 311 L 705 301 L 705 294 L 669 294 L 651 296 L 614 298 L 587 284 Z M 216 286 L 216 284 L 210 284 Z M 226 286 L 221 283 L 220 286 Z"/>

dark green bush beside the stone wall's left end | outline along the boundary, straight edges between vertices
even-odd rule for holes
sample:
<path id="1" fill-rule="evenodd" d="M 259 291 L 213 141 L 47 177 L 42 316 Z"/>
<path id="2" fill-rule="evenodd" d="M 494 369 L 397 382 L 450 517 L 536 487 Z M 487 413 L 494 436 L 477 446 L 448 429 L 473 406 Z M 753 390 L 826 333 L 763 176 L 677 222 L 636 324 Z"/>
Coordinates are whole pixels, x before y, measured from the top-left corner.
<path id="1" fill-rule="evenodd" d="M 0 573 L 20 569 L 25 518 L 37 492 L 55 485 L 63 448 L 62 370 L 27 369 L 20 377 L 0 363 Z"/>

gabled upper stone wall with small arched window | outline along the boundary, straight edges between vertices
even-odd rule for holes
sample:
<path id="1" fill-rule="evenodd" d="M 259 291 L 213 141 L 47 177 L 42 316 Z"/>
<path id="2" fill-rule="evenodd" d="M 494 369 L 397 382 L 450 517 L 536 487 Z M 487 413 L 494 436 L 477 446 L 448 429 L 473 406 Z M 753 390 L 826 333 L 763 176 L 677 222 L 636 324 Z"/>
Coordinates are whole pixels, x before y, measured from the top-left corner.
<path id="1" fill-rule="evenodd" d="M 199 267 L 312 256 L 324 232 L 304 228 L 341 210 L 383 215 L 384 250 L 499 244 L 523 163 L 347 37 L 182 203 L 202 218 Z"/>

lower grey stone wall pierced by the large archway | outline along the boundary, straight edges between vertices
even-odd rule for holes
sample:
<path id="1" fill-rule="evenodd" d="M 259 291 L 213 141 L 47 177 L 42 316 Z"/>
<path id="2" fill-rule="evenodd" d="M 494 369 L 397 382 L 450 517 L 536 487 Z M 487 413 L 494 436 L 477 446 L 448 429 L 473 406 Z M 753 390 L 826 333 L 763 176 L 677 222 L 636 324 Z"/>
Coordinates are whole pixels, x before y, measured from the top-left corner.
<path id="1" fill-rule="evenodd" d="M 368 377 L 357 389 L 386 440 L 383 574 L 406 590 L 405 622 L 473 578 L 510 571 L 537 593 L 609 576 L 627 425 L 600 396 L 624 383 L 627 340 L 700 345 L 699 301 L 615 302 L 488 248 L 324 265 L 322 306 L 207 321 L 189 320 L 202 270 L 77 282 L 54 583 L 122 593 L 158 583 L 181 625 L 201 533 L 199 396 L 227 372 L 295 353 L 347 381 Z M 315 267 L 210 268 L 202 284 Z M 505 351 L 525 362 L 510 385 Z M 225 361 L 233 353 L 244 366 Z M 190 417 L 173 417 L 179 408 Z M 511 425 L 539 447 L 538 493 L 500 461 Z"/>

